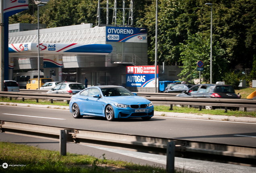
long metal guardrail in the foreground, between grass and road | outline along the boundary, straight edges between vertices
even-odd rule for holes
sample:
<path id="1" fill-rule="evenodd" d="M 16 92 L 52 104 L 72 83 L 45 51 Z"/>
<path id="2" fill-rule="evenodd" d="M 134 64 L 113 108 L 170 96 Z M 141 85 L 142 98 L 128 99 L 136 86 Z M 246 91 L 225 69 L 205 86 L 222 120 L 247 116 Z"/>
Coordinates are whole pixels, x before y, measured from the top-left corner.
<path id="1" fill-rule="evenodd" d="M 103 146 L 122 147 L 127 150 L 145 153 L 168 155 L 168 143 L 174 141 L 175 157 L 256 166 L 256 147 L 0 121 L 0 131 L 5 133 L 23 133 L 51 139 L 60 139 L 60 131 L 63 130 L 66 131 L 65 136 L 68 142 L 92 143 Z M 63 145 L 60 143 L 60 146 Z"/>

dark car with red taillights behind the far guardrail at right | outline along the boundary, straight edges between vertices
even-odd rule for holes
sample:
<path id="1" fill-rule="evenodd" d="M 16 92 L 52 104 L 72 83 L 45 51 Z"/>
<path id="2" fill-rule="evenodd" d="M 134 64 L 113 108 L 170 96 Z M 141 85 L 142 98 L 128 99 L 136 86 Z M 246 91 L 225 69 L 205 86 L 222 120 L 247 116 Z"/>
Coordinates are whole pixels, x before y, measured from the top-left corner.
<path id="1" fill-rule="evenodd" d="M 184 91 L 179 95 L 176 95 L 176 97 L 239 99 L 239 96 L 235 94 L 234 88 L 231 85 L 225 84 L 197 84 L 188 89 L 187 91 Z M 217 107 L 206 107 L 206 109 L 215 108 Z"/>

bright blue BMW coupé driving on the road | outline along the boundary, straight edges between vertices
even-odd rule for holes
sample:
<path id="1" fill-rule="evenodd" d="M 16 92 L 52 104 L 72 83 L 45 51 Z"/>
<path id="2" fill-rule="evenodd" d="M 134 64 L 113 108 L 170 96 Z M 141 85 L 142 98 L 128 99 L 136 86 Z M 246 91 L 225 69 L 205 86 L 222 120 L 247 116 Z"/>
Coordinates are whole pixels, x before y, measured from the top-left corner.
<path id="1" fill-rule="evenodd" d="M 69 110 L 75 119 L 93 115 L 106 117 L 107 121 L 132 117 L 149 120 L 154 115 L 151 101 L 115 85 L 89 87 L 80 91 L 71 97 Z"/>

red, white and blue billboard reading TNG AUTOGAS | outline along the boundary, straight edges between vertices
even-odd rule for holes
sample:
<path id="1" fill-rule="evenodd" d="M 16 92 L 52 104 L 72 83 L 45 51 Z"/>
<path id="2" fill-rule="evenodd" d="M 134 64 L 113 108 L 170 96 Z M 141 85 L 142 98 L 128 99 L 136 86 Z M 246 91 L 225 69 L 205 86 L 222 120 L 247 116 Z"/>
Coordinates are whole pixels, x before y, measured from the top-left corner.
<path id="1" fill-rule="evenodd" d="M 155 66 L 127 66 L 126 87 L 155 87 Z"/>

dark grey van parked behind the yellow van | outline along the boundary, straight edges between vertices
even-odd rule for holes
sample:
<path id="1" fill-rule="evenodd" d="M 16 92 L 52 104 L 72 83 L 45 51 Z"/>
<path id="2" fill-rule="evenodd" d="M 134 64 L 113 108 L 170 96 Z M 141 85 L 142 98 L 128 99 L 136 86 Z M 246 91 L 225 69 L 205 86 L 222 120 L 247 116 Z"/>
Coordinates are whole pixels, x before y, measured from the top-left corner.
<path id="1" fill-rule="evenodd" d="M 43 78 L 43 72 L 40 71 L 40 78 Z M 26 89 L 27 81 L 31 78 L 38 78 L 37 70 L 30 70 L 28 72 L 13 73 L 13 80 L 17 81 L 21 89 Z M 38 87 L 37 87 L 38 88 Z"/>

